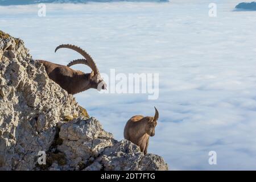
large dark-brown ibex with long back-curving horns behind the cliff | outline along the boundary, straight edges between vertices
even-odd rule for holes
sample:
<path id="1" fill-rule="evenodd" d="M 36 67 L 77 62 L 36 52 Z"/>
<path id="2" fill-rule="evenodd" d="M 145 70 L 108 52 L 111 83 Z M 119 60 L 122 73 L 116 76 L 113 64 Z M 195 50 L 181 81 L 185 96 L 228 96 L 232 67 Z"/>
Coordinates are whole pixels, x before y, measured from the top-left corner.
<path id="1" fill-rule="evenodd" d="M 62 44 L 56 47 L 55 52 L 59 48 L 72 49 L 84 56 L 85 59 L 73 60 L 67 66 L 51 63 L 49 61 L 36 60 L 44 65 L 44 67 L 46 68 L 46 73 L 51 80 L 59 84 L 60 87 L 66 90 L 69 94 L 76 94 L 90 88 L 98 90 L 106 89 L 106 83 L 101 78 L 96 63 L 93 61 L 92 57 L 90 57 L 88 53 L 86 53 L 80 47 L 70 44 Z M 75 64 L 88 65 L 92 69 L 92 72 L 83 73 L 81 71 L 76 71 L 69 68 Z"/>

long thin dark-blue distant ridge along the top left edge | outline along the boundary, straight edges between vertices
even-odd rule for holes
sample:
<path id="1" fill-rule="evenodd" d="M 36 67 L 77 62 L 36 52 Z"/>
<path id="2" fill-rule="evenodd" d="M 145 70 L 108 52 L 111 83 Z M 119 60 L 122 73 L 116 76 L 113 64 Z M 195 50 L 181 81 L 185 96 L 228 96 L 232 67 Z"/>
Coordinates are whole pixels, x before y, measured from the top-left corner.
<path id="1" fill-rule="evenodd" d="M 36 3 L 86 3 L 86 2 L 168 2 L 168 0 L 0 0 L 0 6 L 31 5 Z"/>

